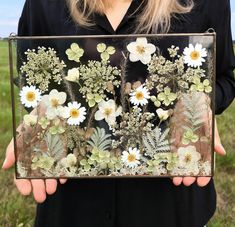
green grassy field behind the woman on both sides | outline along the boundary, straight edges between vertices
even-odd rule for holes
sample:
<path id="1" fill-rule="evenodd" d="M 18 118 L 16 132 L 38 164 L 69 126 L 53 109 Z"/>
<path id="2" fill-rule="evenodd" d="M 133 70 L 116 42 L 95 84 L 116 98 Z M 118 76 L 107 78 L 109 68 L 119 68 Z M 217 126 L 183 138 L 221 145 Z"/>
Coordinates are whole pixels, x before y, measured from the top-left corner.
<path id="1" fill-rule="evenodd" d="M 0 41 L 0 163 L 11 138 L 11 107 L 7 42 Z M 215 184 L 218 205 L 209 227 L 235 226 L 235 102 L 217 117 L 227 156 L 217 158 Z M 33 226 L 35 203 L 19 195 L 13 183 L 13 169 L 0 174 L 0 227 Z"/>

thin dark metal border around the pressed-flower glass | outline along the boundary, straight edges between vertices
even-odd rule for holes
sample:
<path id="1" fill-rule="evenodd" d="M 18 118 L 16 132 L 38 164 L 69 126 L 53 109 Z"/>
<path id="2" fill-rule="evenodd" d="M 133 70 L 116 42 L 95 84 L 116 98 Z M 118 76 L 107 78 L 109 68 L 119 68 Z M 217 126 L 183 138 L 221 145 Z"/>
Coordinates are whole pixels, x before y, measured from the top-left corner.
<path id="1" fill-rule="evenodd" d="M 213 29 L 208 29 L 205 33 L 168 33 L 168 34 L 123 34 L 123 35 L 72 35 L 72 36 L 17 36 L 11 34 L 8 37 L 9 45 L 9 69 L 10 69 L 10 86 L 11 86 L 11 106 L 12 106 L 12 125 L 13 125 L 13 142 L 14 142 L 14 154 L 15 154 L 15 177 L 16 179 L 118 179 L 118 178 L 173 178 L 173 177 L 189 177 L 178 176 L 178 175 L 123 175 L 123 176 L 113 176 L 113 175 L 101 175 L 101 176 L 77 176 L 77 177 L 19 177 L 17 173 L 17 141 L 16 141 L 16 111 L 15 111 L 15 92 L 14 92 L 14 60 L 12 54 L 12 42 L 16 40 L 46 40 L 46 39 L 84 39 L 84 38 L 128 38 L 128 37 L 182 37 L 182 36 L 212 36 L 213 37 L 213 92 L 211 95 L 211 108 L 212 108 L 212 140 L 211 140 L 211 175 L 208 176 L 190 176 L 190 177 L 213 177 L 215 173 L 215 161 L 216 154 L 215 150 L 215 89 L 216 89 L 216 32 Z"/>

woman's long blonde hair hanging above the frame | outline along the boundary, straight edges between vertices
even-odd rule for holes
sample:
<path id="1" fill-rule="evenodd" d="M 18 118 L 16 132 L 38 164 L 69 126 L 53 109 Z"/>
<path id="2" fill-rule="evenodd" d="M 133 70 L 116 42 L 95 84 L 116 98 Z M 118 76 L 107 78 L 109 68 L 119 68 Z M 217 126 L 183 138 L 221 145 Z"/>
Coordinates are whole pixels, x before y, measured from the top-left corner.
<path id="1" fill-rule="evenodd" d="M 104 15 L 105 9 L 112 7 L 112 0 L 67 1 L 72 18 L 81 26 L 93 26 L 94 22 L 89 19 L 90 15 L 92 13 Z M 184 5 L 179 0 L 142 0 L 143 3 L 145 3 L 144 8 L 137 18 L 135 33 L 168 32 L 172 16 L 188 13 L 194 5 L 193 0 L 186 0 Z"/>

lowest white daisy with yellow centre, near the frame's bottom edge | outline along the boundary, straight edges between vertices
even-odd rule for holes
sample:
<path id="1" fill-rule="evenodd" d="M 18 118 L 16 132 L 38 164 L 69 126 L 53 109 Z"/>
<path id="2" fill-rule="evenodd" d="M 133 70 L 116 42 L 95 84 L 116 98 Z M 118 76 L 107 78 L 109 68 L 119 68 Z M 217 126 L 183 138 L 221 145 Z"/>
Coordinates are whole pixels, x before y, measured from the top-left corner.
<path id="1" fill-rule="evenodd" d="M 134 168 L 140 164 L 140 151 L 137 148 L 129 148 L 128 151 L 122 152 L 123 163 L 131 168 Z"/>

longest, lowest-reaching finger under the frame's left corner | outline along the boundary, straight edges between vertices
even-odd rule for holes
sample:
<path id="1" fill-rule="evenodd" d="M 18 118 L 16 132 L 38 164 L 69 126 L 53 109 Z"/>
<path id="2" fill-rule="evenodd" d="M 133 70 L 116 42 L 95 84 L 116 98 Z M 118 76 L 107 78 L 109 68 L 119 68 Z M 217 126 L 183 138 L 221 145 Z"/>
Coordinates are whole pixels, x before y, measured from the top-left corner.
<path id="1" fill-rule="evenodd" d="M 31 184 L 35 201 L 43 203 L 46 200 L 46 186 L 44 180 L 31 180 Z"/>

